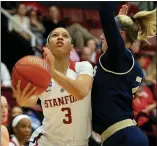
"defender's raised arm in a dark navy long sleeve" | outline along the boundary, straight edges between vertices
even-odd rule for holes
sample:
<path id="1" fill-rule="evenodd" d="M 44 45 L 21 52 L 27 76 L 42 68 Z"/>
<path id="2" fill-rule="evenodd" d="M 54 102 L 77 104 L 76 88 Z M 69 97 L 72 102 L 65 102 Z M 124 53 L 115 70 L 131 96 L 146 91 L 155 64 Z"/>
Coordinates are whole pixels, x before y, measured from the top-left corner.
<path id="1" fill-rule="evenodd" d="M 117 28 L 114 11 L 116 2 L 100 2 L 99 15 L 108 45 L 110 59 L 120 59 L 124 55 L 125 44 Z M 116 60 L 115 60 L 116 62 Z"/>

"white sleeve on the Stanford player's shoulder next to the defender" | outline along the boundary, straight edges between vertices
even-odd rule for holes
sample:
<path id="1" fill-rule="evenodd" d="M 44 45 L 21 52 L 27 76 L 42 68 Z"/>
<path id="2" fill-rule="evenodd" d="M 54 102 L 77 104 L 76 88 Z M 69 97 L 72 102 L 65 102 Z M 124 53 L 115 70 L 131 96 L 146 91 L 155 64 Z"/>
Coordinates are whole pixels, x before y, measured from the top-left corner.
<path id="1" fill-rule="evenodd" d="M 78 75 L 86 74 L 93 77 L 93 66 L 88 61 L 77 62 L 75 69 Z"/>

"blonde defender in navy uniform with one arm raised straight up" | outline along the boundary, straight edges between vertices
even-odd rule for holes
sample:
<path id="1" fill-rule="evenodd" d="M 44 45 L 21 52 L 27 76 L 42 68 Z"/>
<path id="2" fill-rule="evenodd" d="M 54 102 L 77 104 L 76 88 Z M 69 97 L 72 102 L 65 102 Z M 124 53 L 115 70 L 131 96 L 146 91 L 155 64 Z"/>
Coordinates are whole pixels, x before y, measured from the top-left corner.
<path id="1" fill-rule="evenodd" d="M 155 35 L 156 10 L 141 11 L 133 20 L 126 15 L 114 18 L 114 11 L 114 2 L 100 4 L 104 53 L 95 68 L 92 88 L 93 137 L 103 146 L 148 146 L 133 120 L 133 94 L 143 72 L 129 48 L 136 39 Z"/>

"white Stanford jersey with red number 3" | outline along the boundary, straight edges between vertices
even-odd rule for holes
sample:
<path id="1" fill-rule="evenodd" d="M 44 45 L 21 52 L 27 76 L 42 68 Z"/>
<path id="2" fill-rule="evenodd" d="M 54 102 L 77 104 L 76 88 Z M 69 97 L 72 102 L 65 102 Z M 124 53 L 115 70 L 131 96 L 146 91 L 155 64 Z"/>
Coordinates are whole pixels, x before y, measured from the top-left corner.
<path id="1" fill-rule="evenodd" d="M 87 62 L 70 62 L 66 76 L 76 80 L 80 74 L 93 77 L 93 67 Z M 84 87 L 82 87 L 84 88 Z M 91 132 L 91 93 L 78 101 L 53 79 L 40 97 L 44 120 L 43 133 L 49 140 L 83 145 Z"/>

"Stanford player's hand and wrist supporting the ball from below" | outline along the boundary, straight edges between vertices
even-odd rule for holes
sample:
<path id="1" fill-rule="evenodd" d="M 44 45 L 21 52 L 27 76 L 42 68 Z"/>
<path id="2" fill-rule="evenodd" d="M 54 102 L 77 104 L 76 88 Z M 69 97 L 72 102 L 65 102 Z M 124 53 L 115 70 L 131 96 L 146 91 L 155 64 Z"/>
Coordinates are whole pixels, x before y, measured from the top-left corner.
<path id="1" fill-rule="evenodd" d="M 38 96 L 34 96 L 35 87 L 28 91 L 30 87 L 30 83 L 26 85 L 26 87 L 21 90 L 20 88 L 21 81 L 18 81 L 16 87 L 12 86 L 13 96 L 16 98 L 16 102 L 21 107 L 32 107 L 37 103 Z"/>

